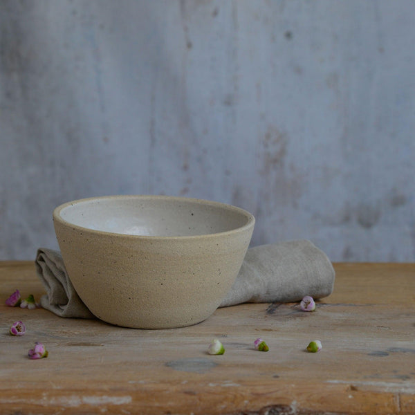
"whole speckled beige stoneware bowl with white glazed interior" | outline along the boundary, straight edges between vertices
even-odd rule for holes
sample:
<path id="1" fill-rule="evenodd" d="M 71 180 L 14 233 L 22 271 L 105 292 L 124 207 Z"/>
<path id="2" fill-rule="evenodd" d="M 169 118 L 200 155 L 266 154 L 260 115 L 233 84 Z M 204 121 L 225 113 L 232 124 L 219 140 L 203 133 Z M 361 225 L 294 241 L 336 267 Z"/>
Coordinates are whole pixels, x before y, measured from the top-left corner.
<path id="1" fill-rule="evenodd" d="M 208 318 L 237 277 L 255 219 L 172 196 L 104 196 L 53 212 L 68 276 L 101 320 L 138 329 Z"/>

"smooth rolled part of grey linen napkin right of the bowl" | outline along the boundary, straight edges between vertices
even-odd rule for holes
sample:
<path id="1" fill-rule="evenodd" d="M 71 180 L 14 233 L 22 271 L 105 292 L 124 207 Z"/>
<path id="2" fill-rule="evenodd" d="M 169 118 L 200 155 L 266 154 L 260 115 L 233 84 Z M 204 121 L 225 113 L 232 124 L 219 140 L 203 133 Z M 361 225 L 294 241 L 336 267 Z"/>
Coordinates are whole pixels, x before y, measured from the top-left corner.
<path id="1" fill-rule="evenodd" d="M 221 303 L 294 302 L 333 291 L 329 258 L 310 241 L 287 241 L 248 249 L 237 279 Z"/>

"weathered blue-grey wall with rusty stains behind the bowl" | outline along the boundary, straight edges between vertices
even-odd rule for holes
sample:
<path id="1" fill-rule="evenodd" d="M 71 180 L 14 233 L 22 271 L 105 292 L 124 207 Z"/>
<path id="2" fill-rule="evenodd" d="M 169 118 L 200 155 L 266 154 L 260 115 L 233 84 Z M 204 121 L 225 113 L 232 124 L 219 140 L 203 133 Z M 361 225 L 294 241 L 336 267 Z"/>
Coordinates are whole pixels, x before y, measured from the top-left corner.
<path id="1" fill-rule="evenodd" d="M 415 260 L 415 2 L 0 1 L 0 259 L 72 199 L 255 214 L 252 244 Z"/>

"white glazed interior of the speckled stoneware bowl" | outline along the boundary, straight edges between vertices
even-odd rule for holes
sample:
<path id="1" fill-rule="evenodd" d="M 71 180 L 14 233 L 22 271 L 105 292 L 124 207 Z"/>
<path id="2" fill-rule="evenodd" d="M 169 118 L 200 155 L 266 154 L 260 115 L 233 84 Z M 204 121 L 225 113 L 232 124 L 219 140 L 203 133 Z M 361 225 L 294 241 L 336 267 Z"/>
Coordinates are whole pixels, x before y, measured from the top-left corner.
<path id="1" fill-rule="evenodd" d="M 89 230 L 149 237 L 190 237 L 247 225 L 247 212 L 221 203 L 165 196 L 109 197 L 69 203 L 62 220 Z"/>

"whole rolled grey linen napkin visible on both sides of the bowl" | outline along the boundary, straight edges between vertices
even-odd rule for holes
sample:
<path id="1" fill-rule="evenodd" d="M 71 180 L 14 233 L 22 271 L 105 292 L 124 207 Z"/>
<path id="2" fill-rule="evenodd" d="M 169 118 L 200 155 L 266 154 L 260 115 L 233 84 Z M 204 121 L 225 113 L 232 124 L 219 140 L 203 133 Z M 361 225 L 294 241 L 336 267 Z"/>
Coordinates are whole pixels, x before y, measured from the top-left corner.
<path id="1" fill-rule="evenodd" d="M 60 317 L 94 318 L 77 295 L 60 252 L 39 248 L 37 276 L 46 288 L 42 307 Z M 335 272 L 329 258 L 306 240 L 249 248 L 237 279 L 220 307 L 244 302 L 295 302 L 333 291 Z"/>

